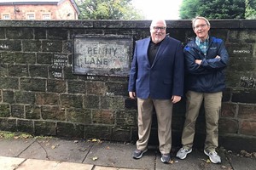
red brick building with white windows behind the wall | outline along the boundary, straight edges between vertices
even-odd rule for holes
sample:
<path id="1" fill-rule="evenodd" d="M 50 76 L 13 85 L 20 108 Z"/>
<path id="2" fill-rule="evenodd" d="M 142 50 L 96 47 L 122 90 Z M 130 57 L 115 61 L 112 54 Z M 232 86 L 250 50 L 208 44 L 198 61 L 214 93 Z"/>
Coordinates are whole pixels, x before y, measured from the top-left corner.
<path id="1" fill-rule="evenodd" d="M 1 20 L 78 20 L 74 0 L 1 0 Z"/>

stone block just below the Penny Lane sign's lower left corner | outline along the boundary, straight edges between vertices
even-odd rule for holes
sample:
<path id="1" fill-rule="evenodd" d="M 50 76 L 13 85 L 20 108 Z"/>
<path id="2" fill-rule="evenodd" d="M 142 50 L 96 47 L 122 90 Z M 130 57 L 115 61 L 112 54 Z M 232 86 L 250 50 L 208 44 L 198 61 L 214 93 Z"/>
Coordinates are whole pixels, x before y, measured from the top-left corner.
<path id="1" fill-rule="evenodd" d="M 85 82 L 84 81 L 67 81 L 67 93 L 68 94 L 85 94 Z"/>

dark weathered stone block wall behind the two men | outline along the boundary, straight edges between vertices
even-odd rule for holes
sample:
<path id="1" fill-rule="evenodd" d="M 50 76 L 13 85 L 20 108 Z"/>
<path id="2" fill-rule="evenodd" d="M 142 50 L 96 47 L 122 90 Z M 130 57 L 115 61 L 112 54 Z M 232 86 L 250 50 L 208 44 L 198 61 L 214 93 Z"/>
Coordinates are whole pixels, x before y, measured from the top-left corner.
<path id="1" fill-rule="evenodd" d="M 255 150 L 256 20 L 210 20 L 211 35 L 226 42 L 230 65 L 219 120 L 219 144 Z M 190 20 L 167 20 L 166 32 L 184 44 Z M 0 130 L 68 138 L 136 141 L 137 102 L 127 77 L 73 74 L 76 35 L 149 36 L 150 20 L 0 21 Z M 133 43 L 134 44 L 134 43 Z M 59 62 L 61 59 L 61 63 Z M 184 99 L 174 106 L 173 144 L 180 144 Z M 155 118 L 155 116 L 154 116 Z M 205 138 L 203 110 L 195 145 Z M 150 143 L 157 143 L 153 122 Z"/>

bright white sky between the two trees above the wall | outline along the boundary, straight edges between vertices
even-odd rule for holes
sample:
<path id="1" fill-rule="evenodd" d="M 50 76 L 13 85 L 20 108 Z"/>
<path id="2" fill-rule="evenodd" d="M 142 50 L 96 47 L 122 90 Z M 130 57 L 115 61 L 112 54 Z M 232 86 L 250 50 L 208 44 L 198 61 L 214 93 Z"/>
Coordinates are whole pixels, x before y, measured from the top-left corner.
<path id="1" fill-rule="evenodd" d="M 178 20 L 178 9 L 183 0 L 132 0 L 131 3 L 143 11 L 146 20 Z"/>

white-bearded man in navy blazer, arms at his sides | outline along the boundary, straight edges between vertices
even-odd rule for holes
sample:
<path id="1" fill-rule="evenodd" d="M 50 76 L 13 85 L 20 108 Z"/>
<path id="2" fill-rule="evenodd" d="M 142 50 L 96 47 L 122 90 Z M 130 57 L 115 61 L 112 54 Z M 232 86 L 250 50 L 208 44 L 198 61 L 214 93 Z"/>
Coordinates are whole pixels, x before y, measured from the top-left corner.
<path id="1" fill-rule="evenodd" d="M 171 161 L 172 105 L 183 96 L 182 43 L 166 36 L 166 21 L 153 20 L 150 37 L 136 42 L 129 79 L 129 96 L 137 97 L 138 140 L 133 158 L 148 150 L 152 114 L 158 122 L 161 161 Z"/>

